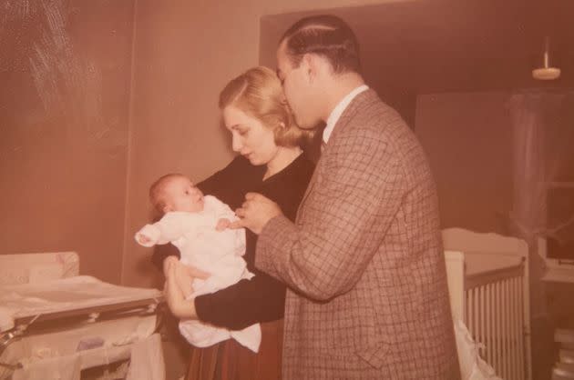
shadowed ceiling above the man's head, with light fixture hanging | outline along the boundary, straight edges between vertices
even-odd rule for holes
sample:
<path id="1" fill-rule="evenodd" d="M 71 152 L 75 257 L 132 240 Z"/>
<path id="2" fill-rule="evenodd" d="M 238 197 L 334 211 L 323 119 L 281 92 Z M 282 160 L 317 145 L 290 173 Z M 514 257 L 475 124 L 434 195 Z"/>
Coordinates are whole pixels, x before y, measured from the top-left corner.
<path id="1" fill-rule="evenodd" d="M 276 45 L 293 22 L 317 13 L 266 16 L 261 30 L 268 26 Z M 418 0 L 319 13 L 352 26 L 364 76 L 378 86 L 410 94 L 574 88 L 574 0 Z M 562 70 L 554 81 L 531 77 L 545 35 Z"/>

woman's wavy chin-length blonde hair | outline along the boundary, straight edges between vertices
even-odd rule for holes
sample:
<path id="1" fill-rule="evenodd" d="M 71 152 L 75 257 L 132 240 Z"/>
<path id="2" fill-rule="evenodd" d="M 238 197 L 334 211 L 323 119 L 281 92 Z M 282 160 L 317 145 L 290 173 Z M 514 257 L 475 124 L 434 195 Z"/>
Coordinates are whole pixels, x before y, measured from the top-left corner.
<path id="1" fill-rule="evenodd" d="M 253 67 L 231 80 L 220 93 L 220 109 L 228 105 L 272 129 L 276 145 L 301 146 L 313 136 L 295 123 L 281 81 L 269 67 Z"/>

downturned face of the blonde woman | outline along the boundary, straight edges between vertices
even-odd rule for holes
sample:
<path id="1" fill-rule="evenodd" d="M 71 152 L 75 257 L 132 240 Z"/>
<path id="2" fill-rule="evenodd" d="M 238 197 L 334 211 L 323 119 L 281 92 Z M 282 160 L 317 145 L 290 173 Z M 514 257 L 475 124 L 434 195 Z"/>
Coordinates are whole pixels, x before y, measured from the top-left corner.
<path id="1" fill-rule="evenodd" d="M 277 155 L 273 131 L 260 120 L 228 105 L 223 108 L 223 122 L 231 132 L 233 151 L 245 156 L 252 165 L 267 165 Z"/>

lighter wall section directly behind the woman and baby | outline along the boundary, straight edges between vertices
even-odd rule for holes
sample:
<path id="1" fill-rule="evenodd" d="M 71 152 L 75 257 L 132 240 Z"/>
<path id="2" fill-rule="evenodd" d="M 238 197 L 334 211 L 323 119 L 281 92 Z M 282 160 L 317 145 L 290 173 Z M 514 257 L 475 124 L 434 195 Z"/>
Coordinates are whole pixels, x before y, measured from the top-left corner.
<path id="1" fill-rule="evenodd" d="M 139 0 L 122 282 L 153 285 L 150 250 L 133 232 L 149 220 L 148 186 L 183 172 L 199 180 L 231 159 L 217 98 L 233 76 L 259 62 L 260 19 L 317 8 L 384 1 Z"/>

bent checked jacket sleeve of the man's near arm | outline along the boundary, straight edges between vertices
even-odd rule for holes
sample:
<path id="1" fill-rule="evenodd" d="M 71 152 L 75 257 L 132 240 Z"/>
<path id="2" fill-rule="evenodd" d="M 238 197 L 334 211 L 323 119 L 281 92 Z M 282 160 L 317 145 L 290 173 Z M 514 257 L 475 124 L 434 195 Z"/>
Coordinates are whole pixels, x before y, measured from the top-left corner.
<path id="1" fill-rule="evenodd" d="M 259 269 L 316 300 L 342 295 L 359 281 L 406 191 L 400 157 L 384 135 L 340 137 L 316 169 L 297 225 L 273 218 L 255 255 Z"/>

